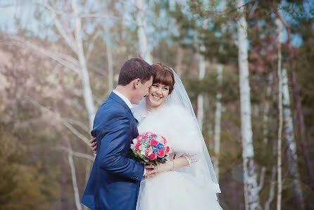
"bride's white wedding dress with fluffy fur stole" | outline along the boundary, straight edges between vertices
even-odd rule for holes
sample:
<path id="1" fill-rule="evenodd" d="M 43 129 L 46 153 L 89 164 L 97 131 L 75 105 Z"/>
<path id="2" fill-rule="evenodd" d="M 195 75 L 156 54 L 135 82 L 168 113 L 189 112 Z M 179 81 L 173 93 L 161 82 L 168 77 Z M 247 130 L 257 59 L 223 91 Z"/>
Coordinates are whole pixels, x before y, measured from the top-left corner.
<path id="1" fill-rule="evenodd" d="M 139 135 L 149 131 L 162 135 L 172 149 L 170 159 L 185 156 L 189 167 L 142 180 L 137 210 L 222 209 L 216 197 L 220 187 L 213 178 L 208 178 L 208 168 L 202 158 L 205 144 L 189 112 L 175 105 L 146 111 L 144 103 L 143 100 L 139 105 L 142 109 L 134 109 Z"/>

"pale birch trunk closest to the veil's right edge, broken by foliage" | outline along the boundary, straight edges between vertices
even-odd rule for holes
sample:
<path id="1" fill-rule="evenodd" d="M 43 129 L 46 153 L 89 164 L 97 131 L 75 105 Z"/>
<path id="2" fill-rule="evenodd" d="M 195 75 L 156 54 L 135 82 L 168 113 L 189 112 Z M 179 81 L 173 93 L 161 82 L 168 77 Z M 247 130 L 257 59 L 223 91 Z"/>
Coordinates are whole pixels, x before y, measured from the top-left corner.
<path id="1" fill-rule="evenodd" d="M 200 56 L 199 59 L 199 80 L 203 80 L 205 77 L 205 58 L 204 56 Z M 204 118 L 204 96 L 203 94 L 199 94 L 197 96 L 197 121 L 199 123 L 199 128 L 201 131 L 203 130 L 203 118 Z"/>

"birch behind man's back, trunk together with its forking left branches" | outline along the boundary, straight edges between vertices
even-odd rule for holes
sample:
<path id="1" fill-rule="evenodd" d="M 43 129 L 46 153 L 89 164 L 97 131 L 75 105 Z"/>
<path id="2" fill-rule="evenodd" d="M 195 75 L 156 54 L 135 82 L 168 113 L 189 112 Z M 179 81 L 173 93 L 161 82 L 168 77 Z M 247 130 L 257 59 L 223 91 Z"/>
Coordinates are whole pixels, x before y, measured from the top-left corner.
<path id="1" fill-rule="evenodd" d="M 33 49 L 35 52 L 43 54 L 44 56 L 47 56 L 54 61 L 57 61 L 61 65 L 75 71 L 75 73 L 80 75 L 80 78 L 82 80 L 82 93 L 84 97 L 84 104 L 87 111 L 87 117 L 89 119 L 89 128 L 92 129 L 96 110 L 93 101 L 92 88 L 89 82 L 89 70 L 87 68 L 87 61 L 83 48 L 83 30 L 81 23 L 82 20 L 77 7 L 77 0 L 71 0 L 70 4 L 73 13 L 69 14 L 68 16 L 70 16 L 70 20 L 73 20 L 73 22 L 71 22 L 70 20 L 69 22 L 66 22 L 67 19 L 64 17 L 64 11 L 57 10 L 46 2 L 41 2 L 35 5 L 39 7 L 44 7 L 46 9 L 46 12 L 48 12 L 46 14 L 49 14 L 49 18 L 51 18 L 51 20 L 53 21 L 54 27 L 56 27 L 58 35 L 60 35 L 61 39 L 63 39 L 64 43 L 68 45 L 69 49 L 73 51 L 73 54 L 76 57 L 72 56 L 71 54 L 63 54 L 58 51 L 45 49 L 44 47 L 40 47 L 39 45 L 22 39 L 18 36 L 11 36 L 9 37 L 9 39 L 11 39 L 12 44 L 15 44 L 19 47 Z M 72 24 L 72 32 L 67 26 L 69 24 Z"/>

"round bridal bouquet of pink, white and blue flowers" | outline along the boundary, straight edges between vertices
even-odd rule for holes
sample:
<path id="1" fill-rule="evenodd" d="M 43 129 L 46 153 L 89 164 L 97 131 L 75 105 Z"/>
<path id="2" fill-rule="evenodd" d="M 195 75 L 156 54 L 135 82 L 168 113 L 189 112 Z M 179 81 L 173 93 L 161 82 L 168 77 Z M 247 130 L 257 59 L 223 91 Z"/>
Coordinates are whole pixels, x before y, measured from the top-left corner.
<path id="1" fill-rule="evenodd" d="M 169 154 L 172 152 L 168 147 L 165 137 L 158 136 L 152 132 L 139 135 L 131 144 L 132 156 L 136 161 L 144 165 L 158 166 L 158 162 L 168 161 Z"/>

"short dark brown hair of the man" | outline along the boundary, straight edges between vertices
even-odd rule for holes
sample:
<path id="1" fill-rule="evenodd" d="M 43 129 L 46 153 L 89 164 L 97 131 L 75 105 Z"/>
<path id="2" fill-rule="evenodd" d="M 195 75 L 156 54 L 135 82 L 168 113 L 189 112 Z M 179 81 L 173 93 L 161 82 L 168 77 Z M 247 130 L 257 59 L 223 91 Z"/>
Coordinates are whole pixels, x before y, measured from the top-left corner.
<path id="1" fill-rule="evenodd" d="M 151 76 L 155 78 L 156 71 L 153 70 L 149 63 L 142 58 L 131 58 L 125 61 L 123 67 L 120 69 L 118 85 L 125 86 L 137 78 L 144 84 L 151 79 Z"/>

